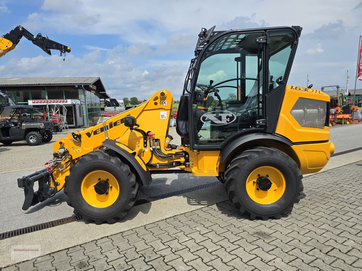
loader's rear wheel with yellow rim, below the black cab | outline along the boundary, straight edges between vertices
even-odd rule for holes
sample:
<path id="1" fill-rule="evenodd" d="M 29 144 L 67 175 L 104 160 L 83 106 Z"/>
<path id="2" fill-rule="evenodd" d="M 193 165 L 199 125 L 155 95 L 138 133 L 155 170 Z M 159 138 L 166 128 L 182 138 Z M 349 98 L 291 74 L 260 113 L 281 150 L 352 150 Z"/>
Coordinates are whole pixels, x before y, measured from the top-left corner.
<path id="1" fill-rule="evenodd" d="M 259 188 L 262 182 L 271 185 L 270 188 L 266 191 L 262 189 L 268 186 Z M 224 185 L 228 197 L 242 214 L 263 220 L 279 219 L 291 212 L 303 191 L 302 173 L 294 160 L 267 147 L 245 150 L 232 159 L 225 171 Z"/>

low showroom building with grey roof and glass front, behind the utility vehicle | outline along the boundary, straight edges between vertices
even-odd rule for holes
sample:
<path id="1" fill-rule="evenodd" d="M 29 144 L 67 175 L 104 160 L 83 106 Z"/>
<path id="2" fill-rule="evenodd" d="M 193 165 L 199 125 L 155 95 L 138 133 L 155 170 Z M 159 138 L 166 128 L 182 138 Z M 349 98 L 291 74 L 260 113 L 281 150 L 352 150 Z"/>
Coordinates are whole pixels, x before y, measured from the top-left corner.
<path id="1" fill-rule="evenodd" d="M 99 77 L 0 78 L 0 91 L 18 104 L 59 109 L 71 127 L 97 124 L 100 99 L 110 98 Z"/>

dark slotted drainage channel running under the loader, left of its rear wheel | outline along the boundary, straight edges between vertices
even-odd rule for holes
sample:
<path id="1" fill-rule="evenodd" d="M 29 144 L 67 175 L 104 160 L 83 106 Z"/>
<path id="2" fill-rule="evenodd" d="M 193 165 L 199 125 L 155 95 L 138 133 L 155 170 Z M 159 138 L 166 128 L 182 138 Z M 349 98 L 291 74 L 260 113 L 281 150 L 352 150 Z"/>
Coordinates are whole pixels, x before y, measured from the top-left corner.
<path id="1" fill-rule="evenodd" d="M 185 194 L 185 193 L 193 192 L 193 191 L 196 191 L 196 190 L 208 188 L 208 187 L 219 185 L 219 184 L 220 184 L 220 181 L 210 182 L 208 184 L 193 186 L 193 187 L 190 187 L 190 188 L 185 188 L 185 189 L 177 190 L 177 191 L 162 194 L 162 195 L 157 195 L 157 196 L 153 196 L 153 197 L 150 197 L 150 198 L 139 199 L 138 201 L 135 202 L 134 206 L 141 205 L 141 204 L 148 203 L 148 202 L 152 202 L 152 201 L 157 201 L 159 199 L 164 199 L 164 198 L 169 198 L 169 197 L 173 197 L 173 196 L 182 195 L 182 194 Z M 46 223 L 42 223 L 42 224 L 38 224 L 38 225 L 34 225 L 34 226 L 29 226 L 29 227 L 25 227 L 25 228 L 21 228 L 21 229 L 15 229 L 15 230 L 9 231 L 9 232 L 3 232 L 3 233 L 0 233 L 0 240 L 7 239 L 7 238 L 10 238 L 10 237 L 14 237 L 14 236 L 18 236 L 18 235 L 23 235 L 25 233 L 40 231 L 42 229 L 56 227 L 56 226 L 59 226 L 59 225 L 67 224 L 67 223 L 77 221 L 77 220 L 82 220 L 82 219 L 83 219 L 83 217 L 81 215 L 75 215 L 75 216 L 69 216 L 67 218 L 57 219 L 57 220 L 54 220 L 54 221 L 50 221 L 50 222 L 46 222 Z"/>

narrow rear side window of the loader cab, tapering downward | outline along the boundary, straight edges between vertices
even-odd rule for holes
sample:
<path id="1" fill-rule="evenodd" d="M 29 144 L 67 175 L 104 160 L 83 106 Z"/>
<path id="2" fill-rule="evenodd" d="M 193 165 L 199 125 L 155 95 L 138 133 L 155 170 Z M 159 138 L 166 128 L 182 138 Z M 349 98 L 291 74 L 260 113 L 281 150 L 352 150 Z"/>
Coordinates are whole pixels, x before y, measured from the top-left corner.
<path id="1" fill-rule="evenodd" d="M 290 30 L 269 32 L 269 91 L 286 82 L 286 69 L 295 36 Z"/>

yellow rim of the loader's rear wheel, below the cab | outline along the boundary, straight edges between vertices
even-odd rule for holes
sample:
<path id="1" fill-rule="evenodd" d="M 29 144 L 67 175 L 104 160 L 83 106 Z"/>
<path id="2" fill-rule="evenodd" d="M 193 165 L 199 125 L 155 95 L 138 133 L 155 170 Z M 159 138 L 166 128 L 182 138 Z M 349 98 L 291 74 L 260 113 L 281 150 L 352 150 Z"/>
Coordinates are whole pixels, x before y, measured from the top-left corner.
<path id="1" fill-rule="evenodd" d="M 268 178 L 271 186 L 267 191 L 259 188 L 261 178 Z M 270 183 L 268 182 L 270 185 Z M 246 189 L 249 197 L 260 204 L 271 204 L 278 201 L 285 192 L 285 178 L 283 174 L 274 167 L 264 166 L 254 169 L 246 182 Z M 265 189 L 265 188 L 263 188 Z"/>

